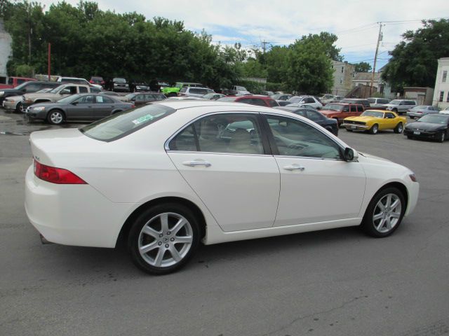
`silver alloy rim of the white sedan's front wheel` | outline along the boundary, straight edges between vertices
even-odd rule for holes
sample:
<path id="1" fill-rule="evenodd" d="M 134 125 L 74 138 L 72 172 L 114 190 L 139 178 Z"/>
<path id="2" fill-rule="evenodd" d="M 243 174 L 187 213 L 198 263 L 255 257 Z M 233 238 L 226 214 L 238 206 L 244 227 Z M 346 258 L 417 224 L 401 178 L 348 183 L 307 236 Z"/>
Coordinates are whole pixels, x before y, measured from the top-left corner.
<path id="1" fill-rule="evenodd" d="M 377 202 L 373 212 L 375 229 L 380 233 L 391 231 L 401 218 L 402 204 L 398 195 L 387 194 Z"/>

